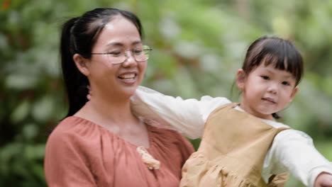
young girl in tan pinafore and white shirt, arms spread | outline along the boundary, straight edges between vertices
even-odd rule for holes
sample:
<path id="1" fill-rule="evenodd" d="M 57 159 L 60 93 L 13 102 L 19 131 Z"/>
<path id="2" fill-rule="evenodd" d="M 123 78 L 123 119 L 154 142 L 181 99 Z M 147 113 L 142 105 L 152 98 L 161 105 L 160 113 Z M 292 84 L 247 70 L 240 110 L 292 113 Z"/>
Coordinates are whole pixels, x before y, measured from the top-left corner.
<path id="1" fill-rule="evenodd" d="M 283 186 L 286 179 L 276 175 L 284 172 L 306 186 L 332 186 L 332 164 L 311 138 L 275 121 L 297 94 L 302 73 L 302 57 L 291 42 L 258 38 L 236 73 L 240 103 L 210 96 L 182 100 L 140 87 L 132 108 L 162 128 L 202 137 L 182 168 L 180 186 Z"/>

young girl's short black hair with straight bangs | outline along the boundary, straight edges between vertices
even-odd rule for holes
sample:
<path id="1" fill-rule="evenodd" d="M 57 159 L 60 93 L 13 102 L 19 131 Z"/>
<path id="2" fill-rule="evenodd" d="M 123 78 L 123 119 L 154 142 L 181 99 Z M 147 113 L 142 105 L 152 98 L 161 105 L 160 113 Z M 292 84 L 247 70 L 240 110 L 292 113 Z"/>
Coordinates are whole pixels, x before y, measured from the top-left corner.
<path id="1" fill-rule="evenodd" d="M 299 50 L 292 42 L 282 38 L 263 36 L 248 47 L 242 66 L 245 74 L 250 74 L 261 63 L 265 66 L 272 64 L 277 69 L 291 73 L 297 81 L 296 85 L 301 81 L 304 72 Z M 272 116 L 280 118 L 277 113 L 273 113 Z"/>

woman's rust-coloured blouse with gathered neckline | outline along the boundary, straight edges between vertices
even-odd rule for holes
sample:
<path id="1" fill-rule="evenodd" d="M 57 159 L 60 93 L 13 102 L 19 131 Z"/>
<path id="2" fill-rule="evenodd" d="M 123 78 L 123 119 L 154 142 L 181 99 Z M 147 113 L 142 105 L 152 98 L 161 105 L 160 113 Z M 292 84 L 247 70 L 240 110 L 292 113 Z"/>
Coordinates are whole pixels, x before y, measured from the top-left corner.
<path id="1" fill-rule="evenodd" d="M 48 186 L 179 186 L 182 166 L 194 148 L 177 132 L 149 123 L 145 120 L 147 150 L 160 161 L 160 169 L 148 169 L 136 145 L 100 125 L 79 117 L 65 118 L 46 144 Z"/>

